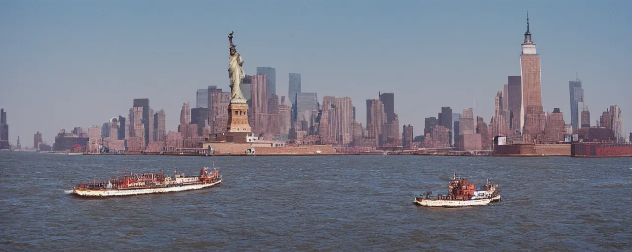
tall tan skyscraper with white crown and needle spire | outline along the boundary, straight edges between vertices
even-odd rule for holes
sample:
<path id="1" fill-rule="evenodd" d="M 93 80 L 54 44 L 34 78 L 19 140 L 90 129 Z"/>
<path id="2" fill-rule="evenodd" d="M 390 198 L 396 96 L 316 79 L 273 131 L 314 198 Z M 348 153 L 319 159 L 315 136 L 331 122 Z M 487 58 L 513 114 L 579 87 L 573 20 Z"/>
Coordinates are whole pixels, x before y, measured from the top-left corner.
<path id="1" fill-rule="evenodd" d="M 529 13 L 526 13 L 525 42 L 522 43 L 520 55 L 520 73 L 522 79 L 522 106 L 520 130 L 523 141 L 533 142 L 538 134 L 542 134 L 545 125 L 544 108 L 542 108 L 542 86 L 540 83 L 540 55 L 535 52 L 535 43 L 531 38 Z"/>

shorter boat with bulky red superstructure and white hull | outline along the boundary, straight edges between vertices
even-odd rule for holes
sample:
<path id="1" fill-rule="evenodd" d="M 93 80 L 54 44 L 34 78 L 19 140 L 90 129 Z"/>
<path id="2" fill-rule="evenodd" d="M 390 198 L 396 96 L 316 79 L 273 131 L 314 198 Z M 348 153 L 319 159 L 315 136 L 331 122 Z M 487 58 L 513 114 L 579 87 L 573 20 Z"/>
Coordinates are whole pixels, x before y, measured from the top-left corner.
<path id="1" fill-rule="evenodd" d="M 476 190 L 474 184 L 465 178 L 458 178 L 456 173 L 447 184 L 447 195 L 437 194 L 432 196 L 428 191 L 415 197 L 415 204 L 424 207 L 470 207 L 473 205 L 487 205 L 491 202 L 499 202 L 501 195 L 497 190 L 497 185 L 492 185 L 487 180 L 487 184 Z"/>

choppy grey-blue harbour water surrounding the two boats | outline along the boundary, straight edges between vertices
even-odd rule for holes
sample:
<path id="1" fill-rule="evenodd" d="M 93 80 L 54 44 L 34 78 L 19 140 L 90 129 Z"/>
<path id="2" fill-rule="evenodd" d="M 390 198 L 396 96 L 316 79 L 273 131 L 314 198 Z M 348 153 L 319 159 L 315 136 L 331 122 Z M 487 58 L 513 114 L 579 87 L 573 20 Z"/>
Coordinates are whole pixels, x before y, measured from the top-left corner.
<path id="1" fill-rule="evenodd" d="M 84 199 L 80 181 L 197 174 L 221 186 Z M 502 202 L 413 205 L 453 172 L 490 178 Z M 5 251 L 622 251 L 632 249 L 632 159 L 570 157 L 171 157 L 0 152 Z"/>

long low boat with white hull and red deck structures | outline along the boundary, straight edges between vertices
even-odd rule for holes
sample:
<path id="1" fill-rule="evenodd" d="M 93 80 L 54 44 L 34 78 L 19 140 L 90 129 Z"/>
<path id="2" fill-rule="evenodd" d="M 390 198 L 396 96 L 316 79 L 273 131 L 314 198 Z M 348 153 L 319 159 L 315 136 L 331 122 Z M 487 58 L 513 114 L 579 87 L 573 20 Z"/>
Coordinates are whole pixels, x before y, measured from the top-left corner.
<path id="1" fill-rule="evenodd" d="M 73 195 L 83 197 L 111 197 L 138 195 L 149 193 L 182 192 L 216 186 L 222 183 L 219 171 L 209 168 L 200 169 L 199 176 L 185 176 L 174 170 L 174 176 L 165 176 L 160 173 L 145 173 L 142 175 L 127 175 L 123 171 L 123 178 L 104 182 L 80 183 L 73 187 Z"/>

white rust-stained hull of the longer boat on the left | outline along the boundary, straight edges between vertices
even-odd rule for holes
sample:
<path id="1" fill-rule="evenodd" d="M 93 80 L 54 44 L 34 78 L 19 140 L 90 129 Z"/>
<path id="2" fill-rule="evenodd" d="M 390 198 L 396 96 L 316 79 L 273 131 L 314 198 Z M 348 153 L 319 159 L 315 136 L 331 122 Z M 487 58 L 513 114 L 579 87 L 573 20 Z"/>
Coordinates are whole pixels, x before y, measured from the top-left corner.
<path id="1" fill-rule="evenodd" d="M 110 196 L 126 196 L 126 195 L 138 195 L 138 194 L 149 194 L 149 193 L 168 193 L 168 192 L 182 192 L 188 190 L 198 190 L 202 188 L 207 188 L 214 185 L 219 185 L 222 183 L 222 180 L 215 181 L 213 183 L 207 184 L 197 184 L 197 185 L 183 185 L 183 186 L 172 186 L 172 187 L 163 187 L 163 188 L 147 188 L 147 189 L 131 189 L 131 190 L 78 190 L 74 189 L 73 194 L 79 196 L 88 196 L 88 197 L 110 197 Z"/>

